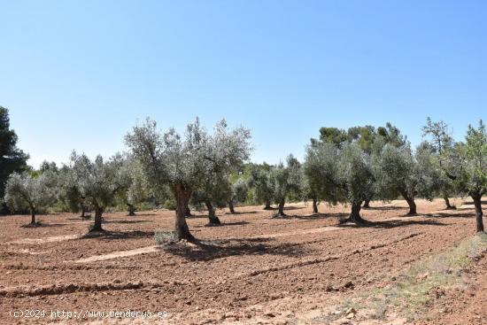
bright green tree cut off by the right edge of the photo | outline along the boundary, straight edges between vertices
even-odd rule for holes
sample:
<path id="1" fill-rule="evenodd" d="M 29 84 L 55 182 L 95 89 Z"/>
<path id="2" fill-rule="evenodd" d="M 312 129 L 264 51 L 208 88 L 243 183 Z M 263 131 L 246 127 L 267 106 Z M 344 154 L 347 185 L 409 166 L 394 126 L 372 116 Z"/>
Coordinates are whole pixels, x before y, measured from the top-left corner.
<path id="1" fill-rule="evenodd" d="M 477 232 L 483 232 L 482 197 L 487 191 L 487 132 L 483 120 L 478 128 L 468 126 L 465 143 L 456 143 L 447 153 L 444 168 L 459 189 L 472 197 Z"/>

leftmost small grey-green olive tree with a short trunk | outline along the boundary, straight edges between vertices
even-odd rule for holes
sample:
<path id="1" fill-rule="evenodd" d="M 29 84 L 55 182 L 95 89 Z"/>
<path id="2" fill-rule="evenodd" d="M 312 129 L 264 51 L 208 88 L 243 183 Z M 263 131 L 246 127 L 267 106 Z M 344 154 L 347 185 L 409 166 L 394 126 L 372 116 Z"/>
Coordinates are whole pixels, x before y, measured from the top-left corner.
<path id="1" fill-rule="evenodd" d="M 24 172 L 12 173 L 5 182 L 4 202 L 13 211 L 19 211 L 27 205 L 31 213 L 31 225 L 35 225 L 35 213 L 38 209 L 48 207 L 56 199 L 56 176 L 51 172 L 37 177 Z"/>

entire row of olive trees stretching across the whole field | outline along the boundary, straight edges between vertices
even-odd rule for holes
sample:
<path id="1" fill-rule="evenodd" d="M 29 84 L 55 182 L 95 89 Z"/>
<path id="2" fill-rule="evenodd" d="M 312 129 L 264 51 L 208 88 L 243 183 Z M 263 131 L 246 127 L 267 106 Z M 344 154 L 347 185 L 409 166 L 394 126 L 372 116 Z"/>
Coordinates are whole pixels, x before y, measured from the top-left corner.
<path id="1" fill-rule="evenodd" d="M 12 174 L 5 187 L 5 201 L 13 208 L 27 205 L 33 215 L 53 200 L 72 210 L 91 206 L 93 230 L 102 230 L 108 206 L 124 202 L 129 214 L 148 197 L 170 191 L 175 201 L 176 240 L 194 240 L 186 217 L 189 202 L 205 205 L 210 224 L 219 224 L 215 206 L 242 203 L 251 189 L 253 200 L 284 217 L 290 198 L 313 199 L 313 212 L 320 201 L 351 206 L 349 221 L 363 222 L 362 205 L 372 199 L 388 201 L 403 197 L 409 213 L 416 213 L 415 197 L 432 199 L 464 193 L 474 199 L 477 230 L 483 231 L 481 199 L 486 191 L 487 135 L 481 121 L 469 127 L 465 143 L 454 143 L 443 122 L 427 120 L 423 135 L 429 142 L 412 151 L 406 137 L 390 123 L 385 127 L 321 128 L 320 138 L 306 147 L 305 161 L 292 155 L 285 164 L 251 165 L 247 177 L 238 176 L 249 159 L 250 132 L 228 129 L 224 120 L 208 133 L 199 121 L 190 123 L 184 135 L 170 128 L 159 132 L 156 122 L 146 120 L 126 136 L 130 152 L 94 161 L 73 152 L 61 168 L 43 165 L 38 174 Z M 237 176 L 236 176 L 237 175 Z"/>

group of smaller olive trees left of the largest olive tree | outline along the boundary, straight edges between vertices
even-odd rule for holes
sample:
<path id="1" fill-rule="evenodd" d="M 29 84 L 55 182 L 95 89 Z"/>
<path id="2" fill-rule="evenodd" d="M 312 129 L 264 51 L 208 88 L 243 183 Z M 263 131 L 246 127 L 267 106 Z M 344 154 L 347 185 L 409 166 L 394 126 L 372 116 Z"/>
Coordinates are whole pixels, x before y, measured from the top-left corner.
<path id="1" fill-rule="evenodd" d="M 11 174 L 5 184 L 4 201 L 13 211 L 27 207 L 36 225 L 35 214 L 40 209 L 63 202 L 71 211 L 87 206 L 95 212 L 92 231 L 102 231 L 102 215 L 116 200 L 128 205 L 128 213 L 135 213 L 135 204 L 147 197 L 148 187 L 138 161 L 118 154 L 107 161 L 95 160 L 73 152 L 68 165 L 58 168 L 43 164 L 36 173 Z"/>

